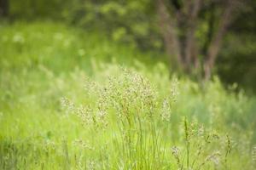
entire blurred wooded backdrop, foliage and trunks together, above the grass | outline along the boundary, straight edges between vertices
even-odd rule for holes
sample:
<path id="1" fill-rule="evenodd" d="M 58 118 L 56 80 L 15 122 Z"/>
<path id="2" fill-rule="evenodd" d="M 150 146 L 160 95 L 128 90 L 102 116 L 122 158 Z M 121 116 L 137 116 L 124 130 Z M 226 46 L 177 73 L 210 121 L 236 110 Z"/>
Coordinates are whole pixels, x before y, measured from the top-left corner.
<path id="1" fill-rule="evenodd" d="M 64 20 L 104 31 L 141 50 L 166 50 L 172 69 L 192 77 L 218 73 L 251 88 L 256 87 L 255 11 L 254 0 L 0 0 L 0 15 L 11 20 Z"/>

